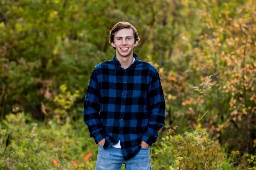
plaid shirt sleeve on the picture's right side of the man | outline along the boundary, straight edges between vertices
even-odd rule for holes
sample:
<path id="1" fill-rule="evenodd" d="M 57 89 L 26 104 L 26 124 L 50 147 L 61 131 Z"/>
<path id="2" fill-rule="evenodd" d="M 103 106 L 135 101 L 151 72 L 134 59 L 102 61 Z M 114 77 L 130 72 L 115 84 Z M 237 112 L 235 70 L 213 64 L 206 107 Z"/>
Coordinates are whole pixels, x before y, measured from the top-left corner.
<path id="1" fill-rule="evenodd" d="M 152 146 L 157 140 L 158 130 L 164 126 L 165 100 L 158 71 L 156 70 L 148 91 L 149 123 L 142 140 Z"/>

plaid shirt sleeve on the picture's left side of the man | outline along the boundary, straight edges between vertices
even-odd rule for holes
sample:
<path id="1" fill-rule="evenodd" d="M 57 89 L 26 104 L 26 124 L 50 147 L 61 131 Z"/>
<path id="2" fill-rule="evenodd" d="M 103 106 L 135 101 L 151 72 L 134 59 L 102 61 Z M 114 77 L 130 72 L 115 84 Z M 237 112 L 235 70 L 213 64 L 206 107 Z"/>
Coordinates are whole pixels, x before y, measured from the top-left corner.
<path id="1" fill-rule="evenodd" d="M 90 136 L 98 143 L 105 136 L 100 122 L 100 90 L 95 69 L 93 70 L 84 101 L 83 117 Z"/>

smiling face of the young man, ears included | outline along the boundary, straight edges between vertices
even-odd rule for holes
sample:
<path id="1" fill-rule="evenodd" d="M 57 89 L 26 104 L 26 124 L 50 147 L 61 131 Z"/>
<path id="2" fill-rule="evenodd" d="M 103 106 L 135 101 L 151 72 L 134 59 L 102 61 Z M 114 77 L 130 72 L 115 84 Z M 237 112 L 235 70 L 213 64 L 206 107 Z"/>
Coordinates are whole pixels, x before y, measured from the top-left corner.
<path id="1" fill-rule="evenodd" d="M 116 32 L 114 42 L 111 42 L 111 45 L 116 48 L 117 57 L 131 56 L 133 54 L 133 48 L 137 44 L 138 41 L 135 42 L 131 28 L 124 28 Z"/>

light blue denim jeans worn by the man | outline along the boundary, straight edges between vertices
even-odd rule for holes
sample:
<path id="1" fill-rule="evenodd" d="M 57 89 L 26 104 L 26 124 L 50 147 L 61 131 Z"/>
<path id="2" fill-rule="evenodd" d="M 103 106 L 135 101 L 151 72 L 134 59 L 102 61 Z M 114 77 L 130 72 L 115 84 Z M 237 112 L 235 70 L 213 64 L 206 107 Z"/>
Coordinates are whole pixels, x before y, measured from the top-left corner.
<path id="1" fill-rule="evenodd" d="M 126 170 L 150 170 L 149 158 L 149 148 L 141 148 L 134 157 L 124 160 L 121 149 L 114 147 L 104 149 L 99 145 L 96 170 L 120 170 L 122 164 L 125 164 Z"/>

